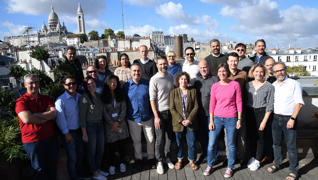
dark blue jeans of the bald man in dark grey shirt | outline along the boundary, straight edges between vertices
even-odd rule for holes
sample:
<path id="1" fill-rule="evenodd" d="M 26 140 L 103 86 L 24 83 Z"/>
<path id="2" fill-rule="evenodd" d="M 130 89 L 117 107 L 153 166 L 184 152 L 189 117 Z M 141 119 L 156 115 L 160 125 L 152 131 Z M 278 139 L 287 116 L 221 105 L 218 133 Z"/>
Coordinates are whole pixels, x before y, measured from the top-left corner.
<path id="1" fill-rule="evenodd" d="M 198 115 L 198 126 L 199 130 L 197 131 L 200 146 L 202 149 L 202 157 L 204 157 L 204 160 L 208 160 L 208 144 L 209 144 L 209 124 L 210 124 L 210 116 L 202 116 Z M 217 151 L 216 155 L 214 156 L 214 160 L 218 160 L 218 154 L 219 154 L 219 143 L 217 143 Z"/>

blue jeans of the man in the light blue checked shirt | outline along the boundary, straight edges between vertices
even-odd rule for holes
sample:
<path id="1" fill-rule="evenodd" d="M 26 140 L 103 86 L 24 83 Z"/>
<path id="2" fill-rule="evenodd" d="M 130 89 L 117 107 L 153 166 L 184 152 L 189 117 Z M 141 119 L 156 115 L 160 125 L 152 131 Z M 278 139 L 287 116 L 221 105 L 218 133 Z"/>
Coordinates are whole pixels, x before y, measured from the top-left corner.
<path id="1" fill-rule="evenodd" d="M 83 171 L 83 156 L 84 150 L 83 145 L 84 141 L 82 139 L 83 133 L 81 128 L 78 131 L 70 130 L 69 133 L 72 135 L 74 142 L 69 141 L 66 143 L 66 137 L 64 134 L 61 134 L 62 141 L 66 150 L 67 157 L 67 171 L 70 175 L 70 179 L 79 179 L 79 175 L 84 174 Z"/>

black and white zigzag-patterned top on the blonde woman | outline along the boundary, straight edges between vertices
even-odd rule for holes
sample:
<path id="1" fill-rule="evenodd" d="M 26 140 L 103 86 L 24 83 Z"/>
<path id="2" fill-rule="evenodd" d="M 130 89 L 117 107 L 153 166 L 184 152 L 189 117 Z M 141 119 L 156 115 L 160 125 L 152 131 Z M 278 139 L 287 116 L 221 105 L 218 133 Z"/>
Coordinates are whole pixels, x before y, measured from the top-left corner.
<path id="1" fill-rule="evenodd" d="M 273 111 L 274 104 L 274 86 L 267 82 L 264 83 L 258 90 L 251 82 L 246 84 L 247 106 L 250 108 L 266 107 L 266 112 Z"/>

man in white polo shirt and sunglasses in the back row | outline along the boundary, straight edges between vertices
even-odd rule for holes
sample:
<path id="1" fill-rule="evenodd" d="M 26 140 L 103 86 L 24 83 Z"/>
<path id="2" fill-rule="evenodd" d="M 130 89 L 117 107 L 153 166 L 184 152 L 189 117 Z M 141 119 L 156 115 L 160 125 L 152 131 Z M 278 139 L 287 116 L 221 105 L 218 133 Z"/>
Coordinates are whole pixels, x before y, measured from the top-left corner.
<path id="1" fill-rule="evenodd" d="M 190 75 L 190 85 L 192 87 L 194 85 L 194 81 L 201 76 L 199 62 L 194 60 L 195 55 L 196 53 L 194 52 L 194 49 L 192 47 L 187 47 L 184 50 L 184 56 L 187 58 L 187 60 L 184 60 L 180 63 L 182 71 L 185 71 Z"/>

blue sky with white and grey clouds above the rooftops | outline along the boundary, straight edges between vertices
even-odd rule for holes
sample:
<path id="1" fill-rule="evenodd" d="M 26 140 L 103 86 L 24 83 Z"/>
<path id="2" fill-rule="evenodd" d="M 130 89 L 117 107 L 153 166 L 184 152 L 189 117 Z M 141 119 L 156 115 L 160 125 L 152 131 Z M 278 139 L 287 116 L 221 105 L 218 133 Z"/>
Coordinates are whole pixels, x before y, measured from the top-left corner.
<path id="1" fill-rule="evenodd" d="M 48 26 L 51 4 L 61 24 L 77 33 L 78 3 L 84 12 L 86 34 L 123 29 L 121 0 L 1 0 L 0 39 L 21 35 L 25 23 L 43 20 Z M 197 42 L 254 43 L 264 39 L 267 48 L 318 47 L 318 3 L 314 0 L 123 0 L 125 35 L 187 34 Z M 63 26 L 63 24 L 62 24 Z M 143 26 L 143 30 L 142 27 Z M 210 30 L 208 30 L 210 28 Z M 285 41 L 285 42 L 284 42 Z"/>

